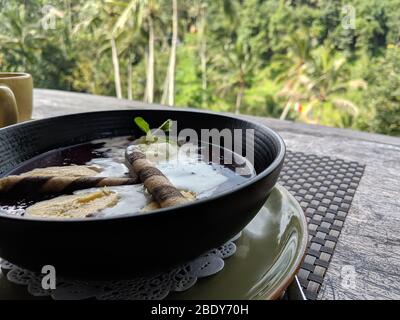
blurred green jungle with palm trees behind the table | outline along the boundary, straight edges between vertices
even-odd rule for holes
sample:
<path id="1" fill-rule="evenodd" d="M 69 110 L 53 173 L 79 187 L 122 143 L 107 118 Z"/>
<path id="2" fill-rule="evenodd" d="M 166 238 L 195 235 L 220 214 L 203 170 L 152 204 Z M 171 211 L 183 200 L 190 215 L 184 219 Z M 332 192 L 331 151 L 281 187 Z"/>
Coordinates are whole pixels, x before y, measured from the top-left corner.
<path id="1" fill-rule="evenodd" d="M 0 0 L 35 86 L 400 135 L 400 0 Z"/>

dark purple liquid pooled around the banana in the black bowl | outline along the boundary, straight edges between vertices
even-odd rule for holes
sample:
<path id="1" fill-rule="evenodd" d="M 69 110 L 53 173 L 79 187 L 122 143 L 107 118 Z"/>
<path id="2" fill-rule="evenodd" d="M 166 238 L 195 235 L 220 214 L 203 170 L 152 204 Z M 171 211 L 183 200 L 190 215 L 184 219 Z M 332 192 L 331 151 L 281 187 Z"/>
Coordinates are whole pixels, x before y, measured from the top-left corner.
<path id="1" fill-rule="evenodd" d="M 101 163 L 104 160 L 112 160 L 112 162 L 115 162 L 116 164 L 123 163 L 125 148 L 132 142 L 132 138 L 124 137 L 119 139 L 120 140 L 118 140 L 115 144 L 113 144 L 113 139 L 103 139 L 101 141 L 93 141 L 52 150 L 22 163 L 14 170 L 9 172 L 9 175 L 18 175 L 35 168 L 86 165 L 93 163 L 97 164 L 96 162 L 100 161 Z M 216 157 L 216 152 L 219 152 L 219 157 Z M 212 191 L 212 194 L 209 195 L 215 195 L 221 192 L 229 191 L 233 187 L 246 182 L 249 178 L 255 175 L 251 164 L 244 162 L 242 157 L 227 150 L 217 150 L 217 148 L 211 147 L 209 148 L 208 154 L 204 154 L 201 149 L 199 149 L 198 153 L 199 159 L 202 159 L 203 162 L 207 163 L 214 172 L 217 172 L 227 178 L 225 182 L 219 184 L 216 189 Z M 230 159 L 233 160 L 232 163 L 224 163 L 224 154 L 228 154 L 230 156 Z M 213 161 L 208 159 L 212 159 Z M 238 167 L 244 169 L 240 171 L 242 173 L 246 172 L 246 174 L 238 174 L 235 171 L 238 169 Z M 192 172 L 191 174 L 193 176 L 196 175 L 195 172 Z M 122 175 L 127 175 L 127 172 L 125 174 L 122 173 Z M 120 174 L 120 176 L 122 175 Z M 189 177 L 187 179 L 189 179 Z M 59 195 L 40 195 L 25 198 L 0 196 L 0 213 L 24 215 L 27 207 L 35 204 L 36 202 L 49 200 L 56 196 Z"/>

